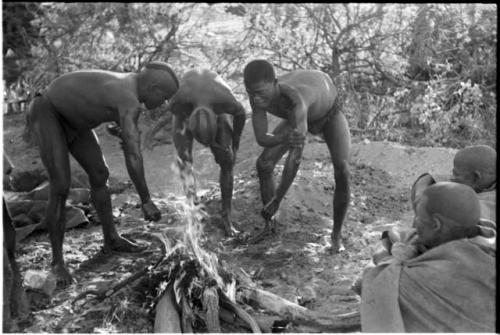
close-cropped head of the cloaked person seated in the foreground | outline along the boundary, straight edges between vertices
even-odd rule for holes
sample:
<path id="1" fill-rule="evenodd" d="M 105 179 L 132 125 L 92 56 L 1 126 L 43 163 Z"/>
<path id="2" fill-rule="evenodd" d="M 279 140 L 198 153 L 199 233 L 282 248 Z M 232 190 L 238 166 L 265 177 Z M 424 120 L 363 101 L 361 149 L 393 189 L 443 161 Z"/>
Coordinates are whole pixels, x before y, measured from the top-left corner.
<path id="1" fill-rule="evenodd" d="M 415 208 L 414 226 L 429 248 L 477 234 L 480 207 L 476 192 L 467 185 L 435 183 L 425 189 Z"/>

